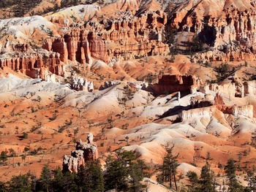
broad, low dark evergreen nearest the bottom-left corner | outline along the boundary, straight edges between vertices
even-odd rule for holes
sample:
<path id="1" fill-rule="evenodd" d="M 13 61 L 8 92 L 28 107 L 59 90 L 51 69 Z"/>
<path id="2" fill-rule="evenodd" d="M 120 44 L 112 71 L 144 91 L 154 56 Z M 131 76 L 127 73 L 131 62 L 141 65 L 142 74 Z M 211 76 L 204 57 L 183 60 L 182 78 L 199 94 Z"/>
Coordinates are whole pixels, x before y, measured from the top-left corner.
<path id="1" fill-rule="evenodd" d="M 29 174 L 12 176 L 12 179 L 10 180 L 10 182 L 8 182 L 8 184 L 8 191 L 31 192 L 31 181 L 29 180 Z"/>

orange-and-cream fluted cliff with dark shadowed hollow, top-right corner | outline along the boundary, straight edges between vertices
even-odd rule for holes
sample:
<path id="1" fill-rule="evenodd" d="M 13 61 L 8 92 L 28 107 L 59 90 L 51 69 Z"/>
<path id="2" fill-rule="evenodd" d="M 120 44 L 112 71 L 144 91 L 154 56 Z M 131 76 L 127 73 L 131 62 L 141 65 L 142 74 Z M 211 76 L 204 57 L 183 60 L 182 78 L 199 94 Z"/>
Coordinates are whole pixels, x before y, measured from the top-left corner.
<path id="1" fill-rule="evenodd" d="M 248 1 L 184 1 L 170 16 L 170 28 L 179 31 L 183 42 L 191 34 L 211 47 L 195 55 L 197 61 L 256 61 L 255 13 L 255 4 Z"/>

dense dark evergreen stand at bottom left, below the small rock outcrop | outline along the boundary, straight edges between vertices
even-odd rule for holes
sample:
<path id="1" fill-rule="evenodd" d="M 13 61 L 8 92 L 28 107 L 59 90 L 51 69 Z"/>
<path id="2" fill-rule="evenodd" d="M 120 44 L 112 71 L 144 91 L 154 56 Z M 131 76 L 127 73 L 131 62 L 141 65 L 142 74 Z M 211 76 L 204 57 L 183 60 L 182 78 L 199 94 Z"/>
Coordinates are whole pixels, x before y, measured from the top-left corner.
<path id="1" fill-rule="evenodd" d="M 30 172 L 13 176 L 7 183 L 0 183 L 0 192 L 102 192 L 111 189 L 137 192 L 146 187 L 141 181 L 148 177 L 147 170 L 148 166 L 137 159 L 136 153 L 117 150 L 116 157 L 108 156 L 105 161 L 104 172 L 99 160 L 86 162 L 77 173 L 63 172 L 60 167 L 51 170 L 44 165 L 39 178 Z"/>

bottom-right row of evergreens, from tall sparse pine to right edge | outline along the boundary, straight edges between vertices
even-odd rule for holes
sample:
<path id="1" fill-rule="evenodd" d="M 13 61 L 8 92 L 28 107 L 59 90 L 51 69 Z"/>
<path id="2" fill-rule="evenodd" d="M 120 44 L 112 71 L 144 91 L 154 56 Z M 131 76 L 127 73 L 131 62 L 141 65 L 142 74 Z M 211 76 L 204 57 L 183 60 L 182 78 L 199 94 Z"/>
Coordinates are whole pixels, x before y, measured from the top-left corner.
<path id="1" fill-rule="evenodd" d="M 207 153 L 206 164 L 201 169 L 200 177 L 195 172 L 189 171 L 186 174 L 187 188 L 184 188 L 184 186 L 178 188 L 176 182 L 176 169 L 179 165 L 177 161 L 178 154 L 173 155 L 173 147 L 167 149 L 167 155 L 165 155 L 162 165 L 158 167 L 157 181 L 159 183 L 182 192 L 256 192 L 255 166 L 253 166 L 252 170 L 246 171 L 244 180 L 247 186 L 244 187 L 237 179 L 236 171 L 239 166 L 236 165 L 236 161 L 233 158 L 230 158 L 224 166 L 226 180 L 223 180 L 222 185 L 219 185 L 216 175 L 211 171 L 211 164 L 209 163 L 211 160 L 210 153 Z M 181 179 L 184 179 L 182 174 L 178 175 L 178 180 Z"/>

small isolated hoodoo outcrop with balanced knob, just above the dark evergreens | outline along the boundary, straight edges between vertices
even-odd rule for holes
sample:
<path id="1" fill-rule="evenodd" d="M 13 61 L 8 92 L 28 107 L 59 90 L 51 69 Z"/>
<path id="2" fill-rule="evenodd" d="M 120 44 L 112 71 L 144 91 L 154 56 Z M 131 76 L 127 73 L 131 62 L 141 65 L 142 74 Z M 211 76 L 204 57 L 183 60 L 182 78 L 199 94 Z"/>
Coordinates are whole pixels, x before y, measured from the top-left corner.
<path id="1" fill-rule="evenodd" d="M 72 150 L 71 155 L 64 155 L 63 170 L 64 172 L 78 172 L 80 165 L 85 165 L 86 161 L 94 161 L 98 156 L 97 145 L 93 142 L 93 134 L 87 137 L 88 142 L 77 142 L 75 150 Z"/>

